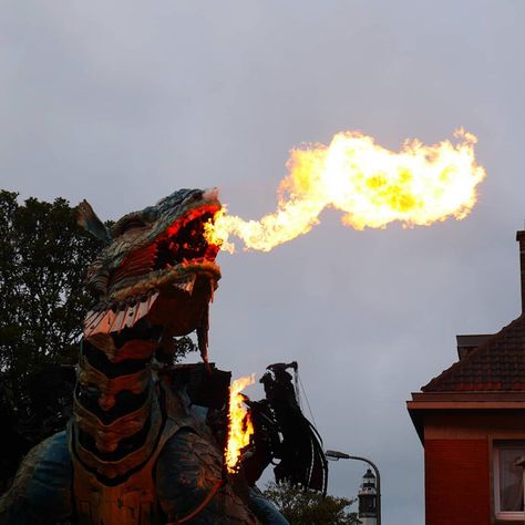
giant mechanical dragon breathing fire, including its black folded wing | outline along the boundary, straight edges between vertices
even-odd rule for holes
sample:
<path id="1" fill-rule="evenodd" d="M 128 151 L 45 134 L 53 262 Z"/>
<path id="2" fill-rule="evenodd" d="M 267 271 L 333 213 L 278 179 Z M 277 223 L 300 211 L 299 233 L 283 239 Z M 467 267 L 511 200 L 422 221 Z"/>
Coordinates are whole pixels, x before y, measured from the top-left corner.
<path id="1" fill-rule="evenodd" d="M 265 374 L 267 400 L 247 400 L 255 440 L 239 473 L 225 472 L 229 374 L 207 350 L 219 246 L 204 235 L 219 209 L 216 191 L 181 189 L 110 229 L 79 205 L 79 224 L 104 247 L 86 277 L 94 306 L 73 418 L 27 455 L 0 500 L 0 525 L 286 524 L 255 486 L 276 457 L 278 480 L 326 490 L 320 439 L 286 366 Z M 204 364 L 166 364 L 175 338 L 193 331 Z"/>

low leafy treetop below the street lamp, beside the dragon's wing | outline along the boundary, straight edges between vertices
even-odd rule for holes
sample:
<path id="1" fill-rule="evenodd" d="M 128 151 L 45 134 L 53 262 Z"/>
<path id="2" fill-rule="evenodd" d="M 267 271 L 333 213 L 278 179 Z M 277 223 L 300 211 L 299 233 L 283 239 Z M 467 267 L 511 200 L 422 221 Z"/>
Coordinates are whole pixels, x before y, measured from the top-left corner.
<path id="1" fill-rule="evenodd" d="M 322 496 L 319 492 L 291 485 L 288 482 L 268 483 L 265 496 L 292 525 L 348 525 L 361 523 L 348 507 L 356 500 Z"/>

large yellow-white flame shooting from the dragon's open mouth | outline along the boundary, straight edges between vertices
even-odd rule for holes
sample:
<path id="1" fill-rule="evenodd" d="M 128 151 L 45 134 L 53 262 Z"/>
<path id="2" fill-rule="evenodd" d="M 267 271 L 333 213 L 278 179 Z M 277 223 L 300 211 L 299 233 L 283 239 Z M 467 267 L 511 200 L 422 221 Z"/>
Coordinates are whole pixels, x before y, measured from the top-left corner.
<path id="1" fill-rule="evenodd" d="M 277 210 L 260 220 L 244 220 L 223 208 L 207 225 L 207 239 L 235 251 L 230 235 L 246 249 L 269 251 L 308 233 L 327 207 L 343 212 L 356 229 L 430 225 L 453 216 L 464 218 L 476 203 L 476 186 L 485 171 L 476 164 L 477 138 L 463 128 L 456 144 L 432 146 L 406 141 L 399 153 L 358 132 L 337 134 L 329 146 L 292 150 L 288 175 L 280 183 Z"/>

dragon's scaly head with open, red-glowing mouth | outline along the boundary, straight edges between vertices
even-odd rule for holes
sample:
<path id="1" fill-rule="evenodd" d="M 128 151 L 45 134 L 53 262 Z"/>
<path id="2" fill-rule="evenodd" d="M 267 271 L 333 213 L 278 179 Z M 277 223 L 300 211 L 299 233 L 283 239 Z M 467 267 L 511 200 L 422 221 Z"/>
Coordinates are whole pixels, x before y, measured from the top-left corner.
<path id="1" fill-rule="evenodd" d="M 219 209 L 216 189 L 179 189 L 109 229 L 82 202 L 79 224 L 105 244 L 87 270 L 95 306 L 84 337 L 121 332 L 146 319 L 169 337 L 197 330 L 206 360 L 208 303 L 220 270 L 219 247 L 204 233 Z"/>

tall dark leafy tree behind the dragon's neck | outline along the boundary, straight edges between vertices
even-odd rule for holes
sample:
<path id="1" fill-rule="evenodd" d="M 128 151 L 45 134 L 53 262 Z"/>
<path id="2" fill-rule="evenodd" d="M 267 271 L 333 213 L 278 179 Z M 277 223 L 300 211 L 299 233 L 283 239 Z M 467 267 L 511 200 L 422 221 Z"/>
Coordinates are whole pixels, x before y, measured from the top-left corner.
<path id="1" fill-rule="evenodd" d="M 91 302 L 83 279 L 100 249 L 63 198 L 17 196 L 0 192 L 0 488 L 21 455 L 68 420 Z"/>

